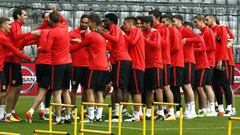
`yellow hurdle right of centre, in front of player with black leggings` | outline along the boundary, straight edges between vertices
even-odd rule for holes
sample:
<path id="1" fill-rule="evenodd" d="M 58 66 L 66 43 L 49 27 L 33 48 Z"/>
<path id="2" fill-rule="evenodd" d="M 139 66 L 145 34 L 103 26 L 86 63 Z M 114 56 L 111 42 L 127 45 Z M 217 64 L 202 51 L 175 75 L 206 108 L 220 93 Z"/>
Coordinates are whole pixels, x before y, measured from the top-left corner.
<path id="1" fill-rule="evenodd" d="M 179 135 L 182 135 L 182 119 L 183 109 L 182 106 L 175 103 L 153 102 L 152 105 L 152 117 L 151 117 L 151 135 L 154 135 L 154 105 L 167 105 L 167 106 L 179 106 L 180 107 L 180 119 L 179 119 Z"/>

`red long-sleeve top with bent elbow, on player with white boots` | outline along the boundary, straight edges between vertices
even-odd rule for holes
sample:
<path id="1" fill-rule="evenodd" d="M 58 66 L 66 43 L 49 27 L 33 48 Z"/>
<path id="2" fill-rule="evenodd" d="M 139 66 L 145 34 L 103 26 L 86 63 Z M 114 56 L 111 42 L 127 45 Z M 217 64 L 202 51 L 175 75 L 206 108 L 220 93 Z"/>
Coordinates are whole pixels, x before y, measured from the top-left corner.
<path id="1" fill-rule="evenodd" d="M 182 35 L 182 38 L 186 38 L 186 44 L 183 46 L 184 62 L 185 63 L 196 63 L 194 58 L 194 47 L 193 43 L 198 43 L 201 40 L 199 37 L 193 33 L 193 31 L 187 27 L 180 26 L 178 28 Z"/>

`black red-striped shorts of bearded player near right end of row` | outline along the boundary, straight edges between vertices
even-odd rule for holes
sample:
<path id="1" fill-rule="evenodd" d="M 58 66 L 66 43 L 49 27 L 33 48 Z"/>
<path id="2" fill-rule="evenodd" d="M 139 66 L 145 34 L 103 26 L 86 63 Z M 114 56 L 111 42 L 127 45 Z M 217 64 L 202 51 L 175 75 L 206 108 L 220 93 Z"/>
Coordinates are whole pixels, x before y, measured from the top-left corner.
<path id="1" fill-rule="evenodd" d="M 222 62 L 222 69 L 214 69 L 213 71 L 213 85 L 230 85 L 229 82 L 229 71 L 227 61 Z"/>

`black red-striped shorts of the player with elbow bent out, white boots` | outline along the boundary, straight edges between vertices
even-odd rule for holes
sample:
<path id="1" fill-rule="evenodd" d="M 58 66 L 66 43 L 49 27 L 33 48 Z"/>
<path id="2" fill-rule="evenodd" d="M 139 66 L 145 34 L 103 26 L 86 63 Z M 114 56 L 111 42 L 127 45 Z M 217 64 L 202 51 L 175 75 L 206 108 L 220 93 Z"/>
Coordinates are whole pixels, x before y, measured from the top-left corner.
<path id="1" fill-rule="evenodd" d="M 195 64 L 193 63 L 185 63 L 184 64 L 184 73 L 183 73 L 184 84 L 192 84 L 195 83 Z"/>

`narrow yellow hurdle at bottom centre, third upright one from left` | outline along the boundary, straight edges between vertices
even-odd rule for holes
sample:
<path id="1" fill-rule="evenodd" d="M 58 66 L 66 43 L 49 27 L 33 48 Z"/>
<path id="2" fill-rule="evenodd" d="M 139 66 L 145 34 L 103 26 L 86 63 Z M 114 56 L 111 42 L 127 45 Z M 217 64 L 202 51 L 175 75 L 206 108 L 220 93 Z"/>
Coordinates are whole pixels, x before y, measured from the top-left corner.
<path id="1" fill-rule="evenodd" d="M 119 105 L 119 116 L 118 116 L 118 135 L 121 135 L 122 132 L 122 108 L 123 105 L 129 106 L 142 106 L 143 107 L 143 127 L 142 127 L 142 135 L 146 135 L 146 107 L 142 103 L 127 103 L 127 102 L 120 102 Z"/>

